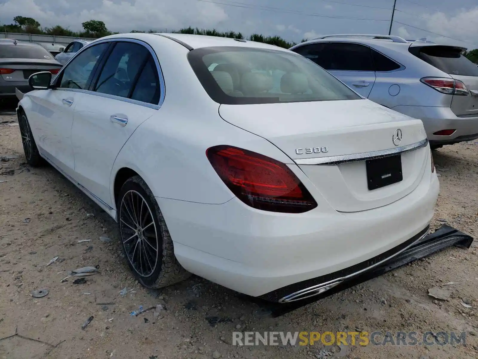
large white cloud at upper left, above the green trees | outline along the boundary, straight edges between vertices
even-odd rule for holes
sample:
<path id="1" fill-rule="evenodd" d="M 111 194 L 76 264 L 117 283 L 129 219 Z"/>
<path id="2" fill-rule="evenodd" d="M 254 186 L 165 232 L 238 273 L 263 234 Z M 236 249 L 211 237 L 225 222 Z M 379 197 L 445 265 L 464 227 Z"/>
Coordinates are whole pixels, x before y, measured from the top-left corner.
<path id="1" fill-rule="evenodd" d="M 228 20 L 228 14 L 220 6 L 209 2 L 136 0 L 131 4 L 101 0 L 94 1 L 94 6 L 85 5 L 91 10 L 64 14 L 44 10 L 35 0 L 7 0 L 0 5 L 0 14 L 2 19 L 13 19 L 21 13 L 22 16 L 33 17 L 42 26 L 59 24 L 72 30 L 80 30 L 81 22 L 95 19 L 105 22 L 109 30 L 118 32 L 179 29 L 190 25 L 213 28 Z"/>

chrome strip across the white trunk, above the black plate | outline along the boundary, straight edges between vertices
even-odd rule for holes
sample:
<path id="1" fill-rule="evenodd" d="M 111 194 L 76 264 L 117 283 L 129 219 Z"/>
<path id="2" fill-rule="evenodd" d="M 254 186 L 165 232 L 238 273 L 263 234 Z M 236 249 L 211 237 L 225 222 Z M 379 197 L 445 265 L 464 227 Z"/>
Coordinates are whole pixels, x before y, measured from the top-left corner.
<path id="1" fill-rule="evenodd" d="M 365 161 L 367 159 L 375 159 L 375 158 L 398 155 L 399 153 L 403 153 L 403 152 L 407 152 L 407 151 L 413 151 L 413 150 L 425 147 L 427 145 L 428 145 L 428 139 L 425 138 L 424 140 L 419 141 L 419 142 L 415 142 L 411 145 L 395 147 L 395 148 L 390 148 L 390 149 L 386 149 L 386 150 L 356 153 L 356 154 L 353 154 L 353 155 L 316 157 L 316 158 L 300 158 L 300 159 L 293 159 L 293 161 L 297 165 L 335 166 L 335 165 L 339 165 L 341 163 L 358 162 L 358 161 Z"/>

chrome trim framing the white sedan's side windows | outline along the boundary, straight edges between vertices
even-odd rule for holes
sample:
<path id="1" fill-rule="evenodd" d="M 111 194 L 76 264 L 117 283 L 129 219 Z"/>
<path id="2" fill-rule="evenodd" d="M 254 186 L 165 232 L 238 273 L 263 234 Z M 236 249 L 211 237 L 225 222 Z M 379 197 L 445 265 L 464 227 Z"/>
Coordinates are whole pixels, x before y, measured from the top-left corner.
<path id="1" fill-rule="evenodd" d="M 105 97 L 105 98 L 108 98 L 108 99 L 119 100 L 119 101 L 123 101 L 123 102 L 129 102 L 129 103 L 133 103 L 135 105 L 140 105 L 140 106 L 143 106 L 143 107 L 152 108 L 154 110 L 159 110 L 161 108 L 161 106 L 163 105 L 164 97 L 165 97 L 165 84 L 164 84 L 164 78 L 163 78 L 163 71 L 161 70 L 161 65 L 159 64 L 158 56 L 156 56 L 156 53 L 154 52 L 151 45 L 149 45 L 148 43 L 146 43 L 144 41 L 141 41 L 141 40 L 129 39 L 129 38 L 125 38 L 125 37 L 115 37 L 115 38 L 111 38 L 111 39 L 93 41 L 91 43 L 88 43 L 87 45 L 85 45 L 81 49 L 79 49 L 75 53 L 75 55 L 72 56 L 66 62 L 66 64 L 62 67 L 61 71 L 58 72 L 58 74 L 54 77 L 54 79 L 52 80 L 52 83 L 54 83 L 56 78 L 58 76 L 60 76 L 65 71 L 65 68 L 68 66 L 68 64 L 71 61 L 73 61 L 76 58 L 76 56 L 81 54 L 83 51 L 86 51 L 91 46 L 104 44 L 104 43 L 109 43 L 109 42 L 130 42 L 130 43 L 135 43 L 135 44 L 138 44 L 138 45 L 143 45 L 144 47 L 146 47 L 148 49 L 148 51 L 150 52 L 150 54 L 151 54 L 151 56 L 154 60 L 154 63 L 156 64 L 156 71 L 158 72 L 159 90 L 160 90 L 160 97 L 159 97 L 158 104 L 153 104 L 153 103 L 148 103 L 148 102 L 143 102 L 143 101 L 138 101 L 138 100 L 132 100 L 132 99 L 128 99 L 126 97 L 120 97 L 120 96 L 110 95 L 110 94 L 107 94 L 107 93 L 101 93 L 101 92 L 96 92 L 96 91 L 91 91 L 91 90 L 68 89 L 68 88 L 60 88 L 60 87 L 55 88 L 53 90 L 83 92 L 83 93 L 87 93 L 87 94 L 90 94 L 90 95 Z"/>

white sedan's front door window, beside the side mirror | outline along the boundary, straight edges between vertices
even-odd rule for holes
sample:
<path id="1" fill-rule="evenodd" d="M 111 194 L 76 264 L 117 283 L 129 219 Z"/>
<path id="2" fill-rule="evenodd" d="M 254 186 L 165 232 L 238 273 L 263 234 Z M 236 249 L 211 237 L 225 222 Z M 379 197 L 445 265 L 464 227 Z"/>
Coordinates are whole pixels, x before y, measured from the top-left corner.
<path id="1" fill-rule="evenodd" d="M 59 87 L 87 90 L 88 79 L 92 75 L 93 68 L 108 46 L 109 43 L 94 45 L 78 54 L 65 67 Z"/>

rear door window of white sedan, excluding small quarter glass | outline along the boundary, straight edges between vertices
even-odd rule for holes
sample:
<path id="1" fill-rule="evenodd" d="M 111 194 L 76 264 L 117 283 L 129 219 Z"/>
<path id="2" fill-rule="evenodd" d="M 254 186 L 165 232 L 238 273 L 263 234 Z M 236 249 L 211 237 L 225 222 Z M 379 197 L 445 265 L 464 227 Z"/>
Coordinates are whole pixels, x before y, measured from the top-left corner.
<path id="1" fill-rule="evenodd" d="M 118 42 L 106 60 L 94 90 L 129 97 L 137 75 L 150 56 L 150 52 L 143 45 Z"/>

